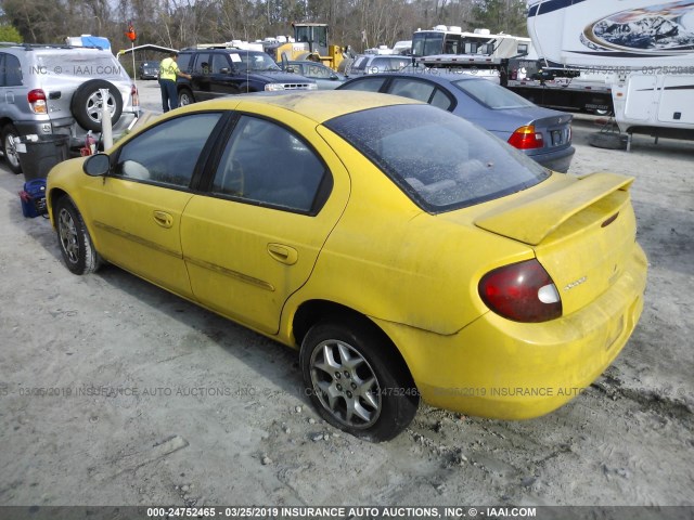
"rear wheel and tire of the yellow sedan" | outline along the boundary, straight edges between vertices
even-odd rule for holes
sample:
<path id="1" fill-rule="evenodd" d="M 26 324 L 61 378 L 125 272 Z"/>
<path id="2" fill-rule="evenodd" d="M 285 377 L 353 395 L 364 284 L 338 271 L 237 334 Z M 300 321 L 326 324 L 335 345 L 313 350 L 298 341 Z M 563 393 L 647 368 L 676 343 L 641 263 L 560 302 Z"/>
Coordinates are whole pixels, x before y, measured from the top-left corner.
<path id="1" fill-rule="evenodd" d="M 301 342 L 299 363 L 321 417 L 355 437 L 390 440 L 416 415 L 420 396 L 407 365 L 371 323 L 319 322 Z"/>

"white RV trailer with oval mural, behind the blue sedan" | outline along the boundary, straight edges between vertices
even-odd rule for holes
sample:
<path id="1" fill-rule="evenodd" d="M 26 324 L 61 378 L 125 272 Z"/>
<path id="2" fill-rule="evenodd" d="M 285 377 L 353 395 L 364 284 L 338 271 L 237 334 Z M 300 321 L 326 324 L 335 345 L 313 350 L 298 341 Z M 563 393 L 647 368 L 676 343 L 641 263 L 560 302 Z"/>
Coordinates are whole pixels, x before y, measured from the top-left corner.
<path id="1" fill-rule="evenodd" d="M 694 138 L 694 1 L 530 0 L 540 57 L 604 74 L 622 132 Z"/>

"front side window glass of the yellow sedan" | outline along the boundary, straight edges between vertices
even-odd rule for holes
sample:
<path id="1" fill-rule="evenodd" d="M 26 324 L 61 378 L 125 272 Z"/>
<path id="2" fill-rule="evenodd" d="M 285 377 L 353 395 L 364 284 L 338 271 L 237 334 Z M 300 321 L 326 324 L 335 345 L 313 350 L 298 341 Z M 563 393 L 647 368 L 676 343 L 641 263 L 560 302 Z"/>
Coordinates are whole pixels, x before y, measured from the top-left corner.
<path id="1" fill-rule="evenodd" d="M 123 146 L 115 174 L 166 187 L 188 187 L 220 117 L 221 113 L 192 114 L 151 128 Z"/>

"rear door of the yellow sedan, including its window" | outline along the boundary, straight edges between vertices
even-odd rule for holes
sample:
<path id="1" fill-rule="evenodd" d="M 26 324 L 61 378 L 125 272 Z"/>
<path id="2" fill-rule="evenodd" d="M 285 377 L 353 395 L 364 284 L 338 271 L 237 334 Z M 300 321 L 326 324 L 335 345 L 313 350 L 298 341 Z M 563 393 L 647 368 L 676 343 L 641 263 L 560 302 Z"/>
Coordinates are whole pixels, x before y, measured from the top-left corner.
<path id="1" fill-rule="evenodd" d="M 278 333 L 349 196 L 347 172 L 314 127 L 240 116 L 209 193 L 183 214 L 195 298 L 267 334 Z"/>

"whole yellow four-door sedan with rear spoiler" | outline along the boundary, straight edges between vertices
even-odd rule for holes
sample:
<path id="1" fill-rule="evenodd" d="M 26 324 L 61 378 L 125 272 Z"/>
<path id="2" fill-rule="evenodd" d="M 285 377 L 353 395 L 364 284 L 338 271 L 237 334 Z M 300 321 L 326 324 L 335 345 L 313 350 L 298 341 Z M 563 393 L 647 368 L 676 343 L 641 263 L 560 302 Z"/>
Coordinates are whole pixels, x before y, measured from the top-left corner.
<path id="1" fill-rule="evenodd" d="M 172 110 L 56 166 L 48 200 L 73 273 L 113 263 L 298 349 L 319 413 L 383 441 L 420 399 L 522 419 L 600 376 L 643 308 L 632 181 L 326 91 Z"/>

